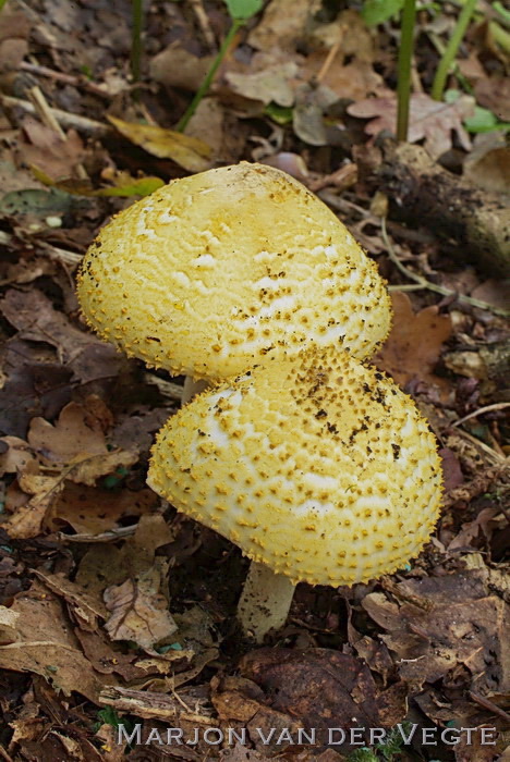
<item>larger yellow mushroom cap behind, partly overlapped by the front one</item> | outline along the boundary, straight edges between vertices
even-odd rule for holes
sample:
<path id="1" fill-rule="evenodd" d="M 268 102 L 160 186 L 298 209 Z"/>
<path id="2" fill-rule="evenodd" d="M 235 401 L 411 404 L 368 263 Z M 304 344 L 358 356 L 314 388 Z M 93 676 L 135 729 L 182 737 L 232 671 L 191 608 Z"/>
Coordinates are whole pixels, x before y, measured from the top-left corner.
<path id="1" fill-rule="evenodd" d="M 366 357 L 391 319 L 375 263 L 326 205 L 246 162 L 175 180 L 114 217 L 77 293 L 104 339 L 206 379 L 307 343 Z"/>

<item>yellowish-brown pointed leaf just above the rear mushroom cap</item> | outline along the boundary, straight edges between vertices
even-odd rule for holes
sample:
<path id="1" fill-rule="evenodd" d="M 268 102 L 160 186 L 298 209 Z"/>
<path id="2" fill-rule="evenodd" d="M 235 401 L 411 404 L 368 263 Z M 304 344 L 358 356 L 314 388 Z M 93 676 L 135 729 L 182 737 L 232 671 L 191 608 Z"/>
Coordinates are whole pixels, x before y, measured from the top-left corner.
<path id="1" fill-rule="evenodd" d="M 199 138 L 151 124 L 124 122 L 116 116 L 108 116 L 108 120 L 131 143 L 159 159 L 172 159 L 189 172 L 204 172 L 211 167 L 210 147 Z"/>

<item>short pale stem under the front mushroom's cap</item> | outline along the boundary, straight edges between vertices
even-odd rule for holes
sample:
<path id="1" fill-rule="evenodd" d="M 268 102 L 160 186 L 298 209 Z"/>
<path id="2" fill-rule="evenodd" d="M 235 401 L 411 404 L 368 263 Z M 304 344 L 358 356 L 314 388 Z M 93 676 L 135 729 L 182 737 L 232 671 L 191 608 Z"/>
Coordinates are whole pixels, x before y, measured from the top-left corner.
<path id="1" fill-rule="evenodd" d="M 238 618 L 246 635 L 257 643 L 270 629 L 286 624 L 294 597 L 294 583 L 283 574 L 276 574 L 266 564 L 252 561 L 238 605 Z"/>

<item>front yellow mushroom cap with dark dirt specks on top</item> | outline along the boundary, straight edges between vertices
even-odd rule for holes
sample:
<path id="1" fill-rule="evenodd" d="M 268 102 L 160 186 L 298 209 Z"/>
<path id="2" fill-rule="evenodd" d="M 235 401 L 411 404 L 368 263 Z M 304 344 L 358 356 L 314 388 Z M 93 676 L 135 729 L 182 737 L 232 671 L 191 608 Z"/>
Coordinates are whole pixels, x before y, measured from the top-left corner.
<path id="1" fill-rule="evenodd" d="M 348 353 L 266 361 L 160 431 L 148 483 L 293 581 L 401 568 L 441 500 L 436 441 L 414 402 Z"/>

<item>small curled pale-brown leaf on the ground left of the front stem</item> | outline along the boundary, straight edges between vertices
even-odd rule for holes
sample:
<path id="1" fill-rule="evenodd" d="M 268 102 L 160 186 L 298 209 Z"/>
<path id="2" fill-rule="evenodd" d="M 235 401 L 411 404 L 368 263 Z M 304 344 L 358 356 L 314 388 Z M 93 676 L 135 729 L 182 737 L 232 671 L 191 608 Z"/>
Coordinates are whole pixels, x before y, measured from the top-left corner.
<path id="1" fill-rule="evenodd" d="M 105 628 L 112 640 L 131 640 L 150 649 L 177 630 L 167 599 L 159 592 L 161 577 L 160 569 L 153 566 L 136 579 L 105 590 L 105 602 L 111 612 Z"/>

